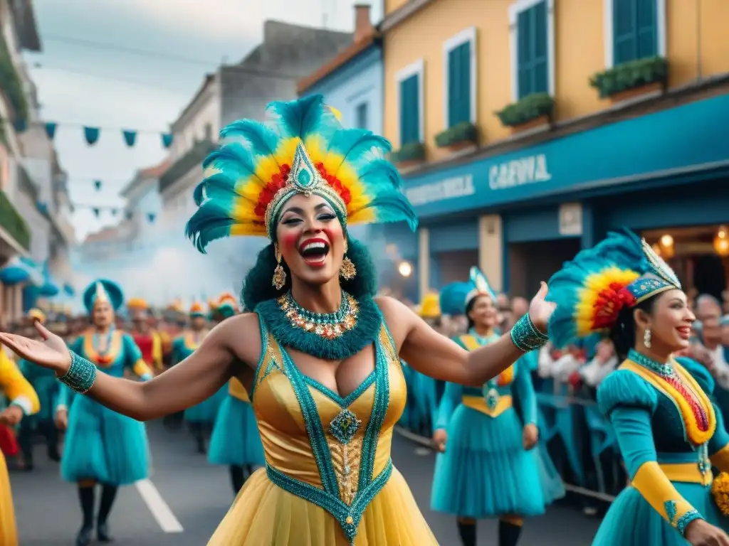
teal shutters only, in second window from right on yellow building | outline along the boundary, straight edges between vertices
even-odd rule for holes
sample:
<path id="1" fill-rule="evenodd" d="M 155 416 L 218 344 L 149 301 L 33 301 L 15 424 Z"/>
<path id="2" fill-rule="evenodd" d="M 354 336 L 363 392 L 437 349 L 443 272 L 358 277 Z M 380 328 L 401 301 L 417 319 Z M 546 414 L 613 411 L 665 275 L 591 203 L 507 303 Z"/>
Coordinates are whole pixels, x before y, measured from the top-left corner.
<path id="1" fill-rule="evenodd" d="M 525 9 L 517 18 L 519 98 L 549 91 L 547 2 Z"/>

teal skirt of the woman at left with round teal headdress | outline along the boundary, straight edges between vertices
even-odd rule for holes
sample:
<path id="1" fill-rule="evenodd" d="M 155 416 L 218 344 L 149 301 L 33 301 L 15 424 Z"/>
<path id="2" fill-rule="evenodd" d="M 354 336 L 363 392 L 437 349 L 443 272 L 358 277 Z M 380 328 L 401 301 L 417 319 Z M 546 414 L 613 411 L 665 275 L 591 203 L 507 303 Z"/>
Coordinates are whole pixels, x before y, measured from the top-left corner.
<path id="1" fill-rule="evenodd" d="M 147 478 L 149 446 L 144 423 L 117 414 L 89 397 L 77 396 L 61 457 L 61 478 L 94 479 L 125 486 Z"/>

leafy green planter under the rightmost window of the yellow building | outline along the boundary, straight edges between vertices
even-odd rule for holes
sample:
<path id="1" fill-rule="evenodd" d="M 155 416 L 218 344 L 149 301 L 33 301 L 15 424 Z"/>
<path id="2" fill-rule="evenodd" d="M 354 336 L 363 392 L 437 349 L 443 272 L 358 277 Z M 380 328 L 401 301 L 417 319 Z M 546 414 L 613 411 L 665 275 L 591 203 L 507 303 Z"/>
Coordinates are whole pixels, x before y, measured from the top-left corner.
<path id="1" fill-rule="evenodd" d="M 600 98 L 613 103 L 635 98 L 650 92 L 662 91 L 668 81 L 668 62 L 661 57 L 631 60 L 598 72 L 590 78 L 590 86 L 598 90 Z"/>

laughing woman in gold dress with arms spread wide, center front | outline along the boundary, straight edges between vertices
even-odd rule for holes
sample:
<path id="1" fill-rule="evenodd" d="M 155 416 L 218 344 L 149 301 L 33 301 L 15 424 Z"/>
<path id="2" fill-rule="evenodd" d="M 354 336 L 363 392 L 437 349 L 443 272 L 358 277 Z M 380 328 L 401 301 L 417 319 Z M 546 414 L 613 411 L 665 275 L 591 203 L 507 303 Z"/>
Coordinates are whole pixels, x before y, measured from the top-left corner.
<path id="1" fill-rule="evenodd" d="M 437 544 L 390 458 L 405 405 L 400 359 L 443 381 L 480 387 L 540 347 L 546 285 L 510 334 L 467 352 L 392 298 L 377 298 L 354 223 L 416 218 L 383 138 L 344 129 L 321 96 L 272 103 L 271 124 L 222 130 L 203 166 L 187 232 L 200 250 L 229 235 L 270 239 L 243 288 L 253 312 L 225 320 L 198 350 L 148 383 L 95 374 L 61 339 L 0 333 L 77 392 L 155 419 L 200 403 L 231 377 L 249 392 L 266 466 L 247 480 L 213 546 Z M 272 280 L 273 277 L 273 280 Z"/>

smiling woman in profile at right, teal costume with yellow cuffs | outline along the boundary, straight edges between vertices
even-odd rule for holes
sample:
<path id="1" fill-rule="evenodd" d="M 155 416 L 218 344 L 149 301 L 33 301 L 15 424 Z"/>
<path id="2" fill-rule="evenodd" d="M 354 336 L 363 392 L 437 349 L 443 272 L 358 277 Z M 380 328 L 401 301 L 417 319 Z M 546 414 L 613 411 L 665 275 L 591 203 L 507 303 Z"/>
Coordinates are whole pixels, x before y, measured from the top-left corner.
<path id="1" fill-rule="evenodd" d="M 631 232 L 582 250 L 550 280 L 558 347 L 610 336 L 625 358 L 600 384 L 631 485 L 617 496 L 596 546 L 725 545 L 712 465 L 729 470 L 729 435 L 710 397 L 714 381 L 689 347 L 695 320 L 676 274 Z"/>

